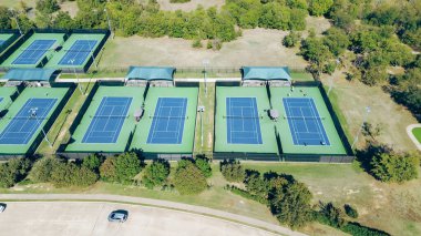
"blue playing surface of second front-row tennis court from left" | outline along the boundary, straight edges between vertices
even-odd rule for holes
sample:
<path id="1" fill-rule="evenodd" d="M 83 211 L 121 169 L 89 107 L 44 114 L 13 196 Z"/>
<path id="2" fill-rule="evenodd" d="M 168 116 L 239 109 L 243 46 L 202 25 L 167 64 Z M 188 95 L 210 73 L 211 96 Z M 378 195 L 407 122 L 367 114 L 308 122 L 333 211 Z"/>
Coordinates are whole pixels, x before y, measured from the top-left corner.
<path id="1" fill-rule="evenodd" d="M 127 119 L 132 98 L 104 96 L 92 116 L 82 143 L 115 143 Z"/>

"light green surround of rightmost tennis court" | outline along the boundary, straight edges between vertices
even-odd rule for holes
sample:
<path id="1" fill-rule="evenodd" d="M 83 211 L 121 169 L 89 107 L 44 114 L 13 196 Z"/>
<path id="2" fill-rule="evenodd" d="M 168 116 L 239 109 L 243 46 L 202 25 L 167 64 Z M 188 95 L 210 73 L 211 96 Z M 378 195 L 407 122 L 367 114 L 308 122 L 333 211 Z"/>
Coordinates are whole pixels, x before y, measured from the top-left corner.
<path id="1" fill-rule="evenodd" d="M 275 110 L 279 113 L 276 122 L 277 132 L 283 147 L 284 154 L 320 154 L 320 155 L 346 155 L 346 148 L 340 140 L 338 131 L 335 127 L 329 110 L 325 104 L 320 90 L 317 86 L 299 86 L 299 88 L 270 88 L 270 102 Z M 322 117 L 321 124 L 326 131 L 326 135 L 330 145 L 296 145 L 292 140 L 294 127 L 289 126 L 286 107 L 283 103 L 284 98 L 311 98 L 319 116 Z"/>

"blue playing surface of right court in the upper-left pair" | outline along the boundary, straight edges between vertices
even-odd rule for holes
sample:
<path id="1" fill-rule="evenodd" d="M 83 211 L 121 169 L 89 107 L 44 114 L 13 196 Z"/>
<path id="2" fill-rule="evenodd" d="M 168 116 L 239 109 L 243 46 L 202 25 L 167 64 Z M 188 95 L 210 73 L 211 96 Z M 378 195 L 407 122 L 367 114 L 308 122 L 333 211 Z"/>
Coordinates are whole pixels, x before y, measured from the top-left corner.
<path id="1" fill-rule="evenodd" d="M 76 40 L 60 60 L 62 65 L 81 65 L 96 45 L 96 40 Z"/>

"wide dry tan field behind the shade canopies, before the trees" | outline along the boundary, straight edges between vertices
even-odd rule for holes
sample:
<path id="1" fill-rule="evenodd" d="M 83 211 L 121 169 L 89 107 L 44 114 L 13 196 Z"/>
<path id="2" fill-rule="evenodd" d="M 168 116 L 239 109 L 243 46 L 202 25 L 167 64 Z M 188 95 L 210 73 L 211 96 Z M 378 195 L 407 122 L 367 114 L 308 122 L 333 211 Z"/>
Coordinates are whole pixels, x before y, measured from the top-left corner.
<path id="1" fill-rule="evenodd" d="M 167 37 L 151 39 L 142 37 L 109 40 L 100 68 L 129 65 L 209 66 L 289 65 L 305 68 L 307 62 L 297 55 L 298 48 L 281 44 L 286 31 L 253 29 L 244 30 L 243 37 L 224 43 L 219 51 L 192 48 L 192 41 Z M 203 41 L 206 45 L 206 41 Z"/>

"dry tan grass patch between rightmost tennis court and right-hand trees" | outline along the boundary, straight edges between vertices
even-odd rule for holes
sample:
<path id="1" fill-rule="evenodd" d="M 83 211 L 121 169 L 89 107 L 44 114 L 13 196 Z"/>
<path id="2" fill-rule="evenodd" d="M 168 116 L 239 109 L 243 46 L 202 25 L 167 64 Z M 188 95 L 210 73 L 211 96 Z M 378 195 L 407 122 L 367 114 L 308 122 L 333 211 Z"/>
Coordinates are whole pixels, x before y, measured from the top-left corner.
<path id="1" fill-rule="evenodd" d="M 345 71 L 337 71 L 331 76 L 322 79 L 329 84 L 333 79 L 332 93 L 341 110 L 346 127 L 349 134 L 355 136 L 360 129 L 366 106 L 370 106 L 368 122 L 381 126 L 380 135 L 377 137 L 381 143 L 388 144 L 398 151 L 414 151 L 415 146 L 407 134 L 407 126 L 417 123 L 407 107 L 397 104 L 390 94 L 380 86 L 368 86 L 359 81 L 347 81 Z M 363 147 L 364 138 L 360 135 L 357 147 Z"/>

